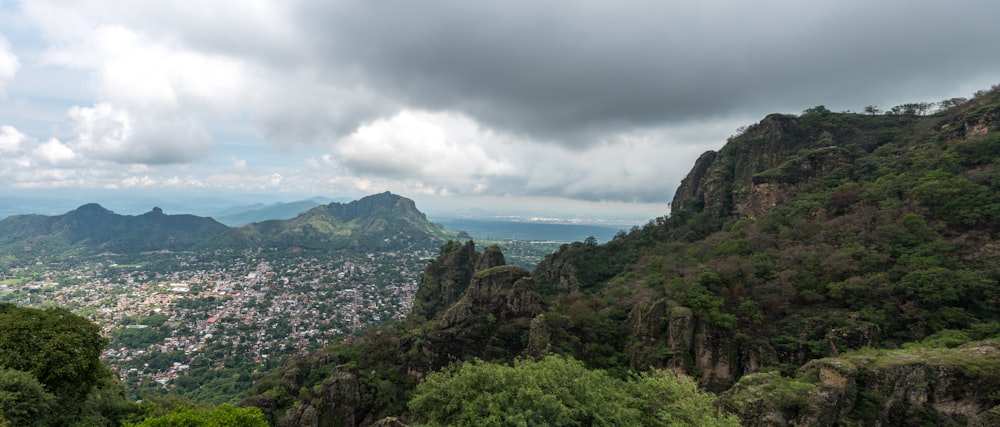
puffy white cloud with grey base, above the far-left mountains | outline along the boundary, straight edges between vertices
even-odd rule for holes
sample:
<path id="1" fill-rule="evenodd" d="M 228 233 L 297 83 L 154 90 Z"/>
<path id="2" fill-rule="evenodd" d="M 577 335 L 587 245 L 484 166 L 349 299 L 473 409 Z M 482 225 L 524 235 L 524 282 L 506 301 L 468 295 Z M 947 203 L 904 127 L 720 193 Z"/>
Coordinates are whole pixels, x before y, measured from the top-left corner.
<path id="1" fill-rule="evenodd" d="M 192 161 L 212 144 L 211 136 L 186 117 L 134 116 L 109 102 L 73 107 L 72 145 L 81 153 L 118 163 L 169 164 Z"/>

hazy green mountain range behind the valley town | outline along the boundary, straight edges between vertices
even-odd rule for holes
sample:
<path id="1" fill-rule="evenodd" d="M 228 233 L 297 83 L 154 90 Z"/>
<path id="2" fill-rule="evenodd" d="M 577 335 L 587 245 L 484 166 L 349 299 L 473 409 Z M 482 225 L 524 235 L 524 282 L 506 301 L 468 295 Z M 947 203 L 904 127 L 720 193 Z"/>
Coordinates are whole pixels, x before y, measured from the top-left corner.
<path id="1" fill-rule="evenodd" d="M 294 204 L 274 206 L 292 209 Z M 304 205 L 299 205 L 304 206 Z M 266 209 L 243 212 L 250 217 Z M 15 215 L 0 221 L 0 259 L 15 264 L 39 259 L 269 247 L 335 251 L 437 247 L 454 233 L 431 223 L 410 199 L 376 194 L 350 203 L 314 206 L 291 219 L 239 228 L 208 217 L 167 215 L 153 208 L 119 215 L 90 203 L 62 215 Z"/>

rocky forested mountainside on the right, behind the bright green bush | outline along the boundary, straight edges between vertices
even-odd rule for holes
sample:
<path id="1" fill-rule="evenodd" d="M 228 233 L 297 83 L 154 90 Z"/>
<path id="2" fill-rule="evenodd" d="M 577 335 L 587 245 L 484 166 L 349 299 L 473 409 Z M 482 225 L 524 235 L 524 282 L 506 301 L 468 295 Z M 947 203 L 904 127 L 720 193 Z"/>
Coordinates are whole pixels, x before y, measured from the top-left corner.
<path id="1" fill-rule="evenodd" d="M 698 159 L 669 217 L 534 272 L 450 242 L 406 322 L 294 358 L 244 403 L 281 426 L 405 420 L 450 363 L 558 354 L 686 372 L 748 425 L 992 425 L 1000 88 L 893 111 L 770 115 Z"/>

